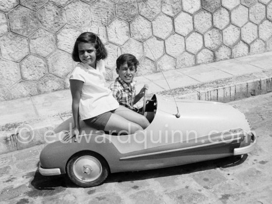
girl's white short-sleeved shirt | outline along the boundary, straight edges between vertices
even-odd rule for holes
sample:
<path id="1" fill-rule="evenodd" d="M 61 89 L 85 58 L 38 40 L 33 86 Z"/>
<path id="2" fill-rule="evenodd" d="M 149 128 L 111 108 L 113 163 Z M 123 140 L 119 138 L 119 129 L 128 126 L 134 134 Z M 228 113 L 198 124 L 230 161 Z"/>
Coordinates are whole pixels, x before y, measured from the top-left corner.
<path id="1" fill-rule="evenodd" d="M 89 119 L 119 107 L 118 101 L 106 85 L 105 74 L 103 60 L 96 62 L 96 69 L 80 62 L 72 72 L 70 80 L 84 82 L 79 103 L 80 120 Z"/>

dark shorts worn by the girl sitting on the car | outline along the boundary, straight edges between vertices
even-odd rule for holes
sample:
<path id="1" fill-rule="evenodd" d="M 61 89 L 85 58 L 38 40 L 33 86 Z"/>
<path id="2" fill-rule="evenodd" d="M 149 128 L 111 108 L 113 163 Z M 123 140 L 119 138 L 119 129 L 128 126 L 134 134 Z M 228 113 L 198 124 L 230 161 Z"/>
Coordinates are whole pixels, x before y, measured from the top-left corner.
<path id="1" fill-rule="evenodd" d="M 98 116 L 94 116 L 93 118 L 89 118 L 86 120 L 83 120 L 86 124 L 88 124 L 91 127 L 94 127 L 97 130 L 105 130 L 106 124 L 108 123 L 111 115 L 113 114 L 115 110 L 102 113 Z"/>

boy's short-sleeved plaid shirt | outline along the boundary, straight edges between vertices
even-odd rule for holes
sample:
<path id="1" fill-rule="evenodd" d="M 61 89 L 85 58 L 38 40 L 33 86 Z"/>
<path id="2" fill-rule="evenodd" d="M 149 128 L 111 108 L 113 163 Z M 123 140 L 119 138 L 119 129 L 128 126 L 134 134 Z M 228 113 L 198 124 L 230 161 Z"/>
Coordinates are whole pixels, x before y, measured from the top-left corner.
<path id="1" fill-rule="evenodd" d="M 136 82 L 133 81 L 130 83 L 129 87 L 126 82 L 118 77 L 109 88 L 111 89 L 113 97 L 116 98 L 120 105 L 133 110 L 134 97 L 136 95 L 135 85 Z"/>

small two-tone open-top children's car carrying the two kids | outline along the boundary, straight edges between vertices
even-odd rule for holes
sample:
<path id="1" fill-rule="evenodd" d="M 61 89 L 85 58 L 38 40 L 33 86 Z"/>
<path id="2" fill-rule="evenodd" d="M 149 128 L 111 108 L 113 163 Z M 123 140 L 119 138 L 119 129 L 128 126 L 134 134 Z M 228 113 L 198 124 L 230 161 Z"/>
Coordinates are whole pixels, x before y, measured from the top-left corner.
<path id="1" fill-rule="evenodd" d="M 177 113 L 178 106 L 180 112 Z M 76 185 L 101 184 L 109 173 L 139 171 L 243 155 L 252 151 L 256 135 L 245 115 L 228 104 L 166 99 L 144 101 L 150 125 L 135 134 L 110 134 L 81 122 L 75 142 L 47 144 L 40 155 L 42 175 L 67 174 Z M 55 132 L 72 127 L 73 118 Z M 56 135 L 57 135 L 56 134 Z"/>

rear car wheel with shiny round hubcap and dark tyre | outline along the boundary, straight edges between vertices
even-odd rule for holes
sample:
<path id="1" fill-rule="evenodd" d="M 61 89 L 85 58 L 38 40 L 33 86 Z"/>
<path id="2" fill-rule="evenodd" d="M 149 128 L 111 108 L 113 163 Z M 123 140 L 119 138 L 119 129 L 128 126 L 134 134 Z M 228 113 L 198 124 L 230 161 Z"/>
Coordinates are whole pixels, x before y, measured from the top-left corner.
<path id="1" fill-rule="evenodd" d="M 85 188 L 102 183 L 109 174 L 109 167 L 100 155 L 93 152 L 80 152 L 68 161 L 66 172 L 73 183 Z"/>

